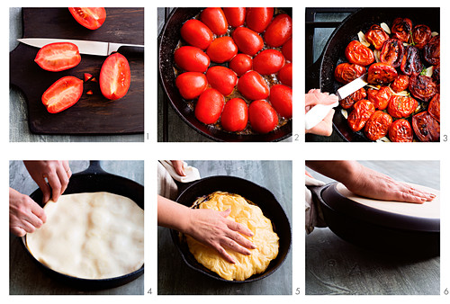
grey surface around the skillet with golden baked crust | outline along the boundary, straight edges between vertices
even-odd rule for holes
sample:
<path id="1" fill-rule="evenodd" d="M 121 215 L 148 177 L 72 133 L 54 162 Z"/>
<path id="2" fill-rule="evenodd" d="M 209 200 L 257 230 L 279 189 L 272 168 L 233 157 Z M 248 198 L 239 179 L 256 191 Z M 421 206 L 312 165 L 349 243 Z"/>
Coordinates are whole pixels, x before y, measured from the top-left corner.
<path id="1" fill-rule="evenodd" d="M 266 187 L 283 206 L 292 227 L 291 161 L 186 161 L 198 168 L 202 177 L 233 175 Z M 292 259 L 263 280 L 251 283 L 226 283 L 211 279 L 189 268 L 178 253 L 169 229 L 157 228 L 157 293 L 164 294 L 292 294 Z"/>

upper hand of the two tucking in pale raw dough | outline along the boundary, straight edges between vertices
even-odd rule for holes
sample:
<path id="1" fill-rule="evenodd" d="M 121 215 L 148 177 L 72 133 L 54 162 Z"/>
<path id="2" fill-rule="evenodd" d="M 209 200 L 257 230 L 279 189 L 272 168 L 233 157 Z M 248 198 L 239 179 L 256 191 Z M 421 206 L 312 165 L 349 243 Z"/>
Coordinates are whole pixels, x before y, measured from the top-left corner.
<path id="1" fill-rule="evenodd" d="M 23 164 L 40 187 L 43 193 L 42 201 L 49 201 L 50 196 L 53 201 L 58 201 L 59 196 L 66 191 L 68 180 L 72 176 L 68 161 L 37 160 L 23 161 Z M 46 178 L 49 183 L 45 181 Z"/>

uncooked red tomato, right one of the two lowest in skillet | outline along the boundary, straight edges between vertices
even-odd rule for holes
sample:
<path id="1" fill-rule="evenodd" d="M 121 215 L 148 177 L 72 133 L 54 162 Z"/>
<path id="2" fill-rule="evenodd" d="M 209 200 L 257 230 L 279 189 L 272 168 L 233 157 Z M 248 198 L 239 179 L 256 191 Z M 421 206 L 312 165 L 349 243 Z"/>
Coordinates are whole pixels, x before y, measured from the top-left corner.
<path id="1" fill-rule="evenodd" d="M 256 100 L 248 107 L 248 119 L 253 130 L 268 133 L 278 125 L 278 116 L 272 106 L 264 100 Z"/>

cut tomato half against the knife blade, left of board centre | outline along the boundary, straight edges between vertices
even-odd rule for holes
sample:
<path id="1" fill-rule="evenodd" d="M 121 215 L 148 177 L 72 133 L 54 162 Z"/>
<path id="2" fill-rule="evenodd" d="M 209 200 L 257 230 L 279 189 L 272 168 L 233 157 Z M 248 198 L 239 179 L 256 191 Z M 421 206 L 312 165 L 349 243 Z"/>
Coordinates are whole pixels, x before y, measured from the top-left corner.
<path id="1" fill-rule="evenodd" d="M 75 44 L 57 42 L 40 48 L 34 61 L 47 71 L 59 72 L 76 67 L 81 61 L 81 56 Z"/>

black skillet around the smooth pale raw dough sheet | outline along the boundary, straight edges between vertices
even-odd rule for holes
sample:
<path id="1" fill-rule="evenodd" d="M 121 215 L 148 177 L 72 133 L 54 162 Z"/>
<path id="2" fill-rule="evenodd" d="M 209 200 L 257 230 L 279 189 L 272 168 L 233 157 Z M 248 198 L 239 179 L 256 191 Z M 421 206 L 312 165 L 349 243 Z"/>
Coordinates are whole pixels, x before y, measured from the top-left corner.
<path id="1" fill-rule="evenodd" d="M 103 171 L 99 161 L 91 161 L 89 167 L 85 171 L 73 174 L 72 177 L 70 177 L 70 182 L 68 183 L 67 190 L 64 194 L 80 192 L 111 192 L 119 194 L 130 198 L 132 201 L 135 201 L 142 210 L 144 209 L 144 187 L 127 178 Z M 40 203 L 40 201 L 42 201 L 42 192 L 38 189 L 35 192 L 32 192 L 30 197 L 33 201 Z M 141 268 L 133 273 L 128 273 L 115 278 L 91 280 L 72 277 L 67 274 L 55 272 L 46 265 L 41 264 L 28 250 L 25 237 L 22 237 L 22 240 L 23 248 L 27 254 L 31 256 L 31 259 L 38 264 L 44 272 L 48 273 L 49 276 L 54 279 L 65 282 L 75 288 L 100 290 L 117 287 L 137 279 L 144 273 L 144 266 L 142 265 Z"/>

